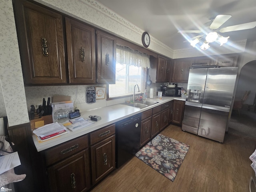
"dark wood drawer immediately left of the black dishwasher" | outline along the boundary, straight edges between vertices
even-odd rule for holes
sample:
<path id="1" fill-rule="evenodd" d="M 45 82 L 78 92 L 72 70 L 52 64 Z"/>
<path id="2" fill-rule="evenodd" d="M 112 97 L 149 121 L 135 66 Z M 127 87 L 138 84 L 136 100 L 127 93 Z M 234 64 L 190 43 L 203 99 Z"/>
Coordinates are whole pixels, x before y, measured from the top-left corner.
<path id="1" fill-rule="evenodd" d="M 112 124 L 91 133 L 91 145 L 96 144 L 97 142 L 104 140 L 107 137 L 115 134 L 115 129 L 115 124 Z"/>

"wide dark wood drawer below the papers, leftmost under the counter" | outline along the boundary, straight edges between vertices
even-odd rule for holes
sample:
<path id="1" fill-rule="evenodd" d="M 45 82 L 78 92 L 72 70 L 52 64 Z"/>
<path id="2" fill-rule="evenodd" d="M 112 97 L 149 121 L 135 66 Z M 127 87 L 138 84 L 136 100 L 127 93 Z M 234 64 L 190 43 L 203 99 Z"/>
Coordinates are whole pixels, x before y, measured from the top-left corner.
<path id="1" fill-rule="evenodd" d="M 88 148 L 88 135 L 68 141 L 45 151 L 46 165 L 54 164 L 85 148 Z"/>

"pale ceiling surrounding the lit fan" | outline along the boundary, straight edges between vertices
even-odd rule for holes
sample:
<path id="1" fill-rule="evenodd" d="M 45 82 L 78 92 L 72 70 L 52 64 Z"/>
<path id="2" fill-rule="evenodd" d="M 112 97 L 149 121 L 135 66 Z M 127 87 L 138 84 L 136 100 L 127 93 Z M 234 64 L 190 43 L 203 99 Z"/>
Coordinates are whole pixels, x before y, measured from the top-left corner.
<path id="1" fill-rule="evenodd" d="M 185 37 L 178 30 L 198 30 L 218 14 L 232 15 L 221 27 L 256 21 L 256 0 L 97 1 L 173 50 L 190 48 L 190 44 L 184 42 L 186 37 L 198 35 L 186 33 Z M 220 34 L 230 36 L 230 42 L 244 39 L 256 41 L 256 28 Z"/>

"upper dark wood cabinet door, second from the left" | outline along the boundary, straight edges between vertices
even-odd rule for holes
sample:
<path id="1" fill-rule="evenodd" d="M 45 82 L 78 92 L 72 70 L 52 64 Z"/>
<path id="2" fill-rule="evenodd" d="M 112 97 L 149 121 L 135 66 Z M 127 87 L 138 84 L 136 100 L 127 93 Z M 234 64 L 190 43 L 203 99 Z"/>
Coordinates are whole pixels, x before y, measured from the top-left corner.
<path id="1" fill-rule="evenodd" d="M 66 18 L 68 75 L 70 83 L 96 83 L 95 30 Z"/>

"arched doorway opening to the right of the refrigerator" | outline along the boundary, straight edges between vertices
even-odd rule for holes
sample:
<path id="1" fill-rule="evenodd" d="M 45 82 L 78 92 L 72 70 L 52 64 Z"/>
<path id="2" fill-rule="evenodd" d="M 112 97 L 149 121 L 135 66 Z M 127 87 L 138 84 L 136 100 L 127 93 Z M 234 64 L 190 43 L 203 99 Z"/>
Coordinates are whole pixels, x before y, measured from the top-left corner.
<path id="1" fill-rule="evenodd" d="M 242 67 L 235 100 L 241 100 L 246 91 L 250 94 L 239 109 L 240 114 L 232 110 L 228 133 L 256 140 L 256 60 Z"/>

